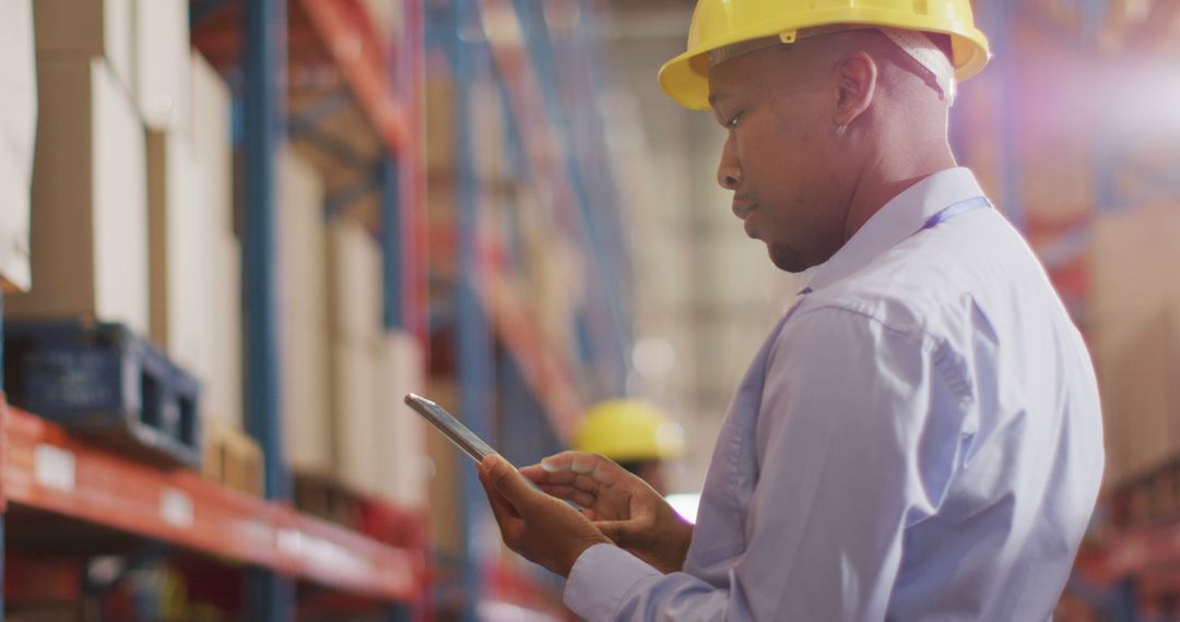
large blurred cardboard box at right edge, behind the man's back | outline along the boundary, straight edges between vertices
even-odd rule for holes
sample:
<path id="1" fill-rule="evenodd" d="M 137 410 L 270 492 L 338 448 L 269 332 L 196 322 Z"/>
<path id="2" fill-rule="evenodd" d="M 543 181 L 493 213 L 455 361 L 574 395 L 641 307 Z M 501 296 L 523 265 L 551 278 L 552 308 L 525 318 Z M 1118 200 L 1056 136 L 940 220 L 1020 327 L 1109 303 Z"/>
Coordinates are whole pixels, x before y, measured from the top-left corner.
<path id="1" fill-rule="evenodd" d="M 1100 217 L 1090 250 L 1092 353 L 1102 393 L 1107 478 L 1180 456 L 1180 211 Z"/>

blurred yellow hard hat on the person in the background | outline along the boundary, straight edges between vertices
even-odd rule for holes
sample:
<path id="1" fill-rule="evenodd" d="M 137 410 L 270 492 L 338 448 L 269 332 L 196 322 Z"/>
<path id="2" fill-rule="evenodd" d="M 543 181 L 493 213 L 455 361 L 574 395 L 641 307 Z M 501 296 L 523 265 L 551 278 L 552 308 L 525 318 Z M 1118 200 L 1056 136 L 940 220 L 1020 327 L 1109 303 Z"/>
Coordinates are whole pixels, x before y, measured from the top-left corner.
<path id="1" fill-rule="evenodd" d="M 573 435 L 573 448 L 615 462 L 667 459 L 684 452 L 684 434 L 645 402 L 611 399 L 586 411 Z"/>

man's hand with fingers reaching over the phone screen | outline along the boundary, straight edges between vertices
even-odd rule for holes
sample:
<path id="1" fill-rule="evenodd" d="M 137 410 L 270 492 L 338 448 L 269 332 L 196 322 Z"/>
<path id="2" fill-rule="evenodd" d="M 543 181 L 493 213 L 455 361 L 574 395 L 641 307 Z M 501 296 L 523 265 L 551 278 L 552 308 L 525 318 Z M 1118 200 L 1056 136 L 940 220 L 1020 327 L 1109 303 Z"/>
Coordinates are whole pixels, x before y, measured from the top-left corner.
<path id="1" fill-rule="evenodd" d="M 657 570 L 683 568 L 693 525 L 618 464 L 595 454 L 564 451 L 520 472 L 545 492 L 584 508 L 594 527 Z"/>

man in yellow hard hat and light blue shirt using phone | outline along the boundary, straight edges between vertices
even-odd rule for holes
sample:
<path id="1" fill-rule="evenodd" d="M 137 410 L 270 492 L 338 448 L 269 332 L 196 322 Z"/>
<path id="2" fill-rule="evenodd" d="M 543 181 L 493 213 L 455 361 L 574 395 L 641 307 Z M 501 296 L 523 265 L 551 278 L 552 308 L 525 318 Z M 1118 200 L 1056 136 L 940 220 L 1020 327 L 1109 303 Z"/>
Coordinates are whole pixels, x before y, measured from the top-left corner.
<path id="1" fill-rule="evenodd" d="M 603 458 L 480 465 L 505 542 L 568 575 L 576 613 L 1050 616 L 1101 479 L 1099 397 L 1044 271 L 948 147 L 953 77 L 986 59 L 971 24 L 968 0 L 700 1 L 661 84 L 728 131 L 746 232 L 818 267 L 734 397 L 695 529 Z"/>

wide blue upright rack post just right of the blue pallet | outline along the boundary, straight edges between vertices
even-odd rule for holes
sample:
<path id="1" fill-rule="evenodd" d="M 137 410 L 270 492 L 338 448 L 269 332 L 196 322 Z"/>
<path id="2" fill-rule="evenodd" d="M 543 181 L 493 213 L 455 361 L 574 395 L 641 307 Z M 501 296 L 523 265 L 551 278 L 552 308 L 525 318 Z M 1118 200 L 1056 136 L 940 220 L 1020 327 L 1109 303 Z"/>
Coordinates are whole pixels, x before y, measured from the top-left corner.
<path id="1" fill-rule="evenodd" d="M 267 498 L 287 499 L 290 492 L 278 416 L 275 285 L 275 152 L 286 132 L 287 4 L 251 0 L 242 2 L 242 8 L 247 422 L 263 450 Z M 295 618 L 295 588 L 290 580 L 260 568 L 248 570 L 245 581 L 248 620 Z"/>

